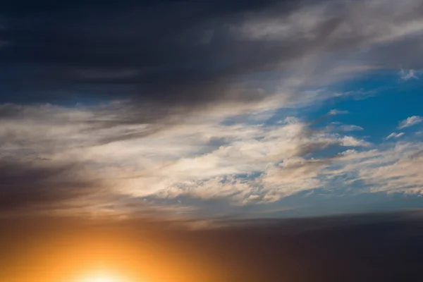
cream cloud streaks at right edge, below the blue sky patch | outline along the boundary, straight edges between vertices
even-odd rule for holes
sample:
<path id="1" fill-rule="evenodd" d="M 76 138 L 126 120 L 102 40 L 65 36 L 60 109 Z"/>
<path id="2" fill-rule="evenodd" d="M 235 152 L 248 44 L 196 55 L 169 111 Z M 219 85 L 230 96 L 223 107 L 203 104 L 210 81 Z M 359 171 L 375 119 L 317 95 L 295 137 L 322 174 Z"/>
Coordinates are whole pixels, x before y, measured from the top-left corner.
<path id="1" fill-rule="evenodd" d="M 282 164 L 276 171 L 269 170 L 264 177 L 269 187 L 266 197 L 277 200 L 293 192 L 322 187 L 354 189 L 355 193 L 423 193 L 422 152 L 421 142 L 398 142 L 384 149 L 362 152 L 348 149 L 331 159 L 296 159 L 295 164 Z M 271 184 L 282 189 L 271 190 Z"/>

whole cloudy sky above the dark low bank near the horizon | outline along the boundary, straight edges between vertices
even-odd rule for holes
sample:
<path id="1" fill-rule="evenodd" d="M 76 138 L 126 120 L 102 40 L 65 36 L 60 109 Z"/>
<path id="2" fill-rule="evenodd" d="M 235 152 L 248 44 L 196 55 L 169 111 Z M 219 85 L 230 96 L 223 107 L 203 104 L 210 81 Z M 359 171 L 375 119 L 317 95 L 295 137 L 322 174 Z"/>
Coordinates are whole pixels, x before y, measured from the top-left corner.
<path id="1" fill-rule="evenodd" d="M 420 0 L 0 10 L 3 217 L 423 206 Z"/>

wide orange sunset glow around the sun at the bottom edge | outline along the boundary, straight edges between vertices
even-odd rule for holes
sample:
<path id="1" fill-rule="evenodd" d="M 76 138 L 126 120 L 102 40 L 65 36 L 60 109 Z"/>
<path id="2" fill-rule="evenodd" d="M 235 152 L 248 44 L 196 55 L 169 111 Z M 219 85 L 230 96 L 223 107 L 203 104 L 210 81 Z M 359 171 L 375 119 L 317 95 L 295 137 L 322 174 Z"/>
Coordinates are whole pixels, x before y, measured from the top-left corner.
<path id="1" fill-rule="evenodd" d="M 20 231 L 1 240 L 0 251 L 7 252 L 8 257 L 0 263 L 0 280 L 216 281 L 210 264 L 190 259 L 188 254 L 192 250 L 176 242 L 165 231 L 129 223 L 121 226 L 48 223 L 33 228 L 32 232 Z"/>

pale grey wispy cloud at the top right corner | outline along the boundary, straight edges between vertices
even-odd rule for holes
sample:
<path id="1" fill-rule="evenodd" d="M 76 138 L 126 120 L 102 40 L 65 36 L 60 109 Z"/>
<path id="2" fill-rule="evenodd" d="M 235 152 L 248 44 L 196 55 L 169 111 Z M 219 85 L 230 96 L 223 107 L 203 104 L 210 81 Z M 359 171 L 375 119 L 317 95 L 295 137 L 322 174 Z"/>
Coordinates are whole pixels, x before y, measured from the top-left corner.
<path id="1" fill-rule="evenodd" d="M 392 42 L 423 29 L 422 20 L 402 18 L 419 1 L 407 1 L 407 4 L 392 0 L 369 0 L 365 4 L 347 1 L 343 6 L 328 1 L 322 3 L 304 6 L 287 17 L 263 13 L 262 17 L 248 19 L 236 30 L 250 39 L 314 39 L 317 37 L 316 28 L 327 20 L 328 15 L 340 9 L 343 9 L 343 19 L 336 29 L 331 30 L 330 39 L 333 41 L 360 36 L 372 44 Z"/>

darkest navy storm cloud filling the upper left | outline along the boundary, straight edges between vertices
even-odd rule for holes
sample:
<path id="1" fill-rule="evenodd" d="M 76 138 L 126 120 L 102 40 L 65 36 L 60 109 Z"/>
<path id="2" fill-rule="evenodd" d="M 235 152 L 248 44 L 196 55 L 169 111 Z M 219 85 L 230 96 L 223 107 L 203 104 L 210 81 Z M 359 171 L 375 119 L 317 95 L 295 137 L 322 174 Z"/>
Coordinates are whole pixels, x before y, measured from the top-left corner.
<path id="1" fill-rule="evenodd" d="M 229 71 L 231 57 L 242 47 L 227 47 L 232 40 L 223 25 L 237 14 L 266 6 L 222 3 L 96 6 L 68 1 L 56 9 L 9 7 L 1 30 L 1 38 L 10 42 L 0 53 L 9 73 L 5 88 L 35 92 L 23 98 L 30 101 L 88 92 L 159 104 L 213 102 L 236 84 L 230 74 L 238 71 Z M 209 28 L 217 29 L 220 38 L 204 44 Z"/>

